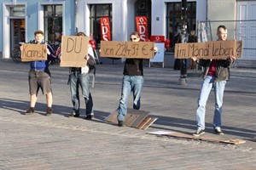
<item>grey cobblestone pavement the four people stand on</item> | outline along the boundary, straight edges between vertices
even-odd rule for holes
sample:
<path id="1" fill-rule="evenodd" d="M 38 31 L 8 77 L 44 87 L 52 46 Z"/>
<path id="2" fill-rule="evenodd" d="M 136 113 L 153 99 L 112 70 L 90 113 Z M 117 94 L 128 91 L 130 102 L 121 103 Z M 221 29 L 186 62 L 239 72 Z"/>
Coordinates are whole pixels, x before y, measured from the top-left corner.
<path id="1" fill-rule="evenodd" d="M 224 94 L 225 139 L 245 144 L 220 144 L 148 134 L 154 131 L 194 133 L 197 95 L 201 77 L 178 83 L 179 71 L 145 67 L 143 111 L 158 117 L 146 130 L 117 127 L 104 122 L 120 98 L 123 65 L 96 65 L 91 88 L 95 118 L 68 118 L 72 110 L 68 69 L 51 65 L 54 113 L 44 116 L 45 97 L 39 93 L 36 113 L 29 107 L 29 65 L 0 59 L 0 169 L 171 170 L 256 169 L 256 71 L 232 68 Z M 195 73 L 195 71 L 189 73 Z M 212 132 L 214 96 L 207 103 L 205 136 Z M 84 113 L 84 101 L 81 101 Z M 132 99 L 129 101 L 129 107 Z"/>

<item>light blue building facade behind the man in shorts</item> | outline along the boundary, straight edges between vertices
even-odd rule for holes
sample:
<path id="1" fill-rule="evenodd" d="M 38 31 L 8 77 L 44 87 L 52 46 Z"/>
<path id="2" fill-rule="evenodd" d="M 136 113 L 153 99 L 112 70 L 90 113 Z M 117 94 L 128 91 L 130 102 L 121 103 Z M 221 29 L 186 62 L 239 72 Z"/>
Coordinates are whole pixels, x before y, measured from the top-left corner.
<path id="1" fill-rule="evenodd" d="M 44 39 L 57 46 L 61 35 L 75 33 L 73 0 L 3 0 L 0 8 L 0 53 L 10 58 L 20 42 L 34 39 L 34 31 L 44 31 Z"/>

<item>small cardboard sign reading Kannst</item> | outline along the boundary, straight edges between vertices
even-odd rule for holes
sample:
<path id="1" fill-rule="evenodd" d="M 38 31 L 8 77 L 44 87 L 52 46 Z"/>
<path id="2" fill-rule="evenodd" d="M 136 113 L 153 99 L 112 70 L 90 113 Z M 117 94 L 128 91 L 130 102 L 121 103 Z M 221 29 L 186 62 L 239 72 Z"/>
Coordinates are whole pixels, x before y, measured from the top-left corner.
<path id="1" fill-rule="evenodd" d="M 23 43 L 21 45 L 21 61 L 47 60 L 46 44 Z"/>

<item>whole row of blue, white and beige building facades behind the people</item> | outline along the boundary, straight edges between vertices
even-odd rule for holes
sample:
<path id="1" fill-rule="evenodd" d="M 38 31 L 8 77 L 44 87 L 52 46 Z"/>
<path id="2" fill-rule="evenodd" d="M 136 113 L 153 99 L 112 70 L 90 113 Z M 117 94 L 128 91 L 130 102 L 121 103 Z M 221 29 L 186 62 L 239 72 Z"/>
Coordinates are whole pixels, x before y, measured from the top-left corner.
<path id="1" fill-rule="evenodd" d="M 188 32 L 196 30 L 201 38 L 199 28 L 203 24 L 210 41 L 217 38 L 217 26 L 225 25 L 230 39 L 244 41 L 241 60 L 255 62 L 256 0 L 187 0 L 186 6 Z M 9 58 L 16 42 L 24 42 L 24 39 L 28 42 L 33 39 L 32 32 L 38 29 L 44 30 L 49 42 L 57 41 L 62 34 L 69 36 L 84 31 L 96 39 L 96 47 L 100 48 L 102 17 L 109 19 L 111 40 L 127 41 L 131 32 L 137 31 L 136 17 L 145 16 L 148 37 L 164 36 L 171 40 L 165 58 L 166 66 L 172 66 L 181 8 L 182 0 L 3 0 L 0 53 L 3 52 L 3 58 Z M 19 35 L 25 32 L 25 36 L 18 40 L 15 39 L 17 26 L 20 26 Z"/>

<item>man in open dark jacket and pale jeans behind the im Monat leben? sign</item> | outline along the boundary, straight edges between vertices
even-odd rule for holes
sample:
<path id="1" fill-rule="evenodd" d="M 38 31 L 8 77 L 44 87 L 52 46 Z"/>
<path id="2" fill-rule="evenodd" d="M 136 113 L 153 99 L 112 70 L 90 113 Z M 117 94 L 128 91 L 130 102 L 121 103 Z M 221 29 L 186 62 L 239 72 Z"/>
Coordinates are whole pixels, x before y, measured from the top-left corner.
<path id="1" fill-rule="evenodd" d="M 227 39 L 227 28 L 225 26 L 218 26 L 217 35 L 218 41 L 225 41 Z M 223 135 L 221 130 L 221 116 L 223 107 L 224 88 L 227 81 L 230 80 L 230 65 L 234 56 L 230 56 L 227 59 L 199 59 L 195 57 L 198 65 L 204 67 L 204 81 L 201 84 L 201 90 L 198 98 L 198 108 L 196 110 L 196 126 L 197 130 L 193 134 L 194 136 L 200 136 L 205 133 L 205 115 L 208 96 L 214 88 L 215 95 L 215 110 L 213 116 L 213 131 L 216 134 Z"/>

